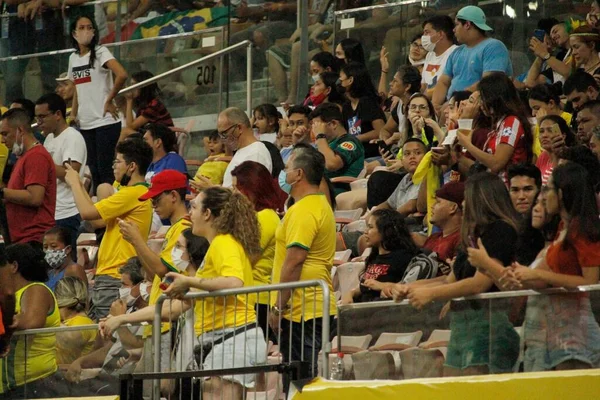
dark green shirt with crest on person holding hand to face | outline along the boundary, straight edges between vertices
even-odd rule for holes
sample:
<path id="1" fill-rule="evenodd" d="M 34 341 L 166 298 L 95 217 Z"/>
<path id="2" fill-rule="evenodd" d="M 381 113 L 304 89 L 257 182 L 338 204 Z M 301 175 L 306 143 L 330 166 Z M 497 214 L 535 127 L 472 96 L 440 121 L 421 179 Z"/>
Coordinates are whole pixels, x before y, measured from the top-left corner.
<path id="1" fill-rule="evenodd" d="M 342 135 L 329 142 L 329 148 L 342 158 L 344 166 L 337 171 L 325 171 L 327 178 L 331 179 L 338 176 L 357 177 L 365 167 L 365 149 L 355 136 Z M 348 185 L 344 186 L 335 185 L 335 194 L 338 195 L 349 189 Z"/>

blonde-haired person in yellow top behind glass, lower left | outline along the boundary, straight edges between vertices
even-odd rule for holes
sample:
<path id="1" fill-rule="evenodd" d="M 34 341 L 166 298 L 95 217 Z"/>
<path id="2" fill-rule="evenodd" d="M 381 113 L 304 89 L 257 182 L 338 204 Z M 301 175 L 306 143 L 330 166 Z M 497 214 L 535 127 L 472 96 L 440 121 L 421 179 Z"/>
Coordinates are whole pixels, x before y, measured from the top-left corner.
<path id="1" fill-rule="evenodd" d="M 65 276 L 57 282 L 54 294 L 63 325 L 81 326 L 94 323 L 86 314 L 88 291 L 87 285 L 81 279 L 75 276 Z M 90 353 L 94 350 L 97 333 L 97 329 L 57 333 L 57 363 L 68 365 Z"/>

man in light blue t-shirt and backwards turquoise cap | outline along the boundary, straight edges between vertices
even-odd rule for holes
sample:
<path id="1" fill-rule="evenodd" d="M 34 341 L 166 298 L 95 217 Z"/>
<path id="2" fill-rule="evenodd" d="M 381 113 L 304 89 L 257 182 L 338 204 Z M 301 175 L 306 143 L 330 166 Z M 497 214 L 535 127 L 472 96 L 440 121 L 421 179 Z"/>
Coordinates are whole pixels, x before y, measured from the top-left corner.
<path id="1" fill-rule="evenodd" d="M 442 104 L 457 90 L 474 92 L 478 82 L 492 72 L 512 75 L 512 64 L 504 43 L 487 37 L 492 28 L 479 7 L 467 6 L 456 14 L 454 34 L 459 46 L 448 58 L 444 74 L 433 92 L 433 104 Z"/>

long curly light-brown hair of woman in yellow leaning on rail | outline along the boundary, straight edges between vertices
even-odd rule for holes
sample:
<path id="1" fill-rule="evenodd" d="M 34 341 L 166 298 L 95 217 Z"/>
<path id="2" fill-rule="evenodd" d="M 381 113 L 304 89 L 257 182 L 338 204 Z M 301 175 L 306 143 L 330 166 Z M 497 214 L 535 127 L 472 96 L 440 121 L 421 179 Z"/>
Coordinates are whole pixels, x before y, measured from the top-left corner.
<path id="1" fill-rule="evenodd" d="M 213 227 L 237 240 L 252 261 L 261 254 L 260 228 L 254 206 L 246 196 L 231 189 L 213 186 L 202 191 L 202 207 L 215 217 Z"/>

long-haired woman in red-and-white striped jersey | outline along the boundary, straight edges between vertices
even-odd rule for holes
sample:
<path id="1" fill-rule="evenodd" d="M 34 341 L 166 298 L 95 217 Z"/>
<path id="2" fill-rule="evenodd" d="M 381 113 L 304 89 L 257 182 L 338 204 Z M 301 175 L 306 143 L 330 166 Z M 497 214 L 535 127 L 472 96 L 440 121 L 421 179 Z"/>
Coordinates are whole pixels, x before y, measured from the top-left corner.
<path id="1" fill-rule="evenodd" d="M 511 164 L 531 162 L 533 137 L 523 112 L 523 104 L 510 78 L 501 73 L 488 75 L 479 82 L 482 109 L 492 119 L 495 129 L 483 150 L 471 137 L 458 131 L 458 142 L 491 172 L 505 182 L 506 168 Z"/>

